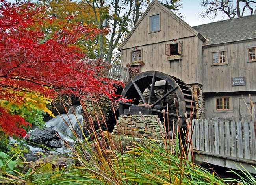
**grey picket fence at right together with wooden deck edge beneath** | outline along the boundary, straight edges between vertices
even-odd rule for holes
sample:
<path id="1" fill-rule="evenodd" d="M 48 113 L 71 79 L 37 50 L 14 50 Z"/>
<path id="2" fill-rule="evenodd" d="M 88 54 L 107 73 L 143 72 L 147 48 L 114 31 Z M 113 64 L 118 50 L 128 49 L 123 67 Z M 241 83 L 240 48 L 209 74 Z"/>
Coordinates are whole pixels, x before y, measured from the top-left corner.
<path id="1" fill-rule="evenodd" d="M 256 139 L 252 122 L 192 120 L 194 160 L 256 174 Z M 239 164 L 241 163 L 241 165 Z"/>

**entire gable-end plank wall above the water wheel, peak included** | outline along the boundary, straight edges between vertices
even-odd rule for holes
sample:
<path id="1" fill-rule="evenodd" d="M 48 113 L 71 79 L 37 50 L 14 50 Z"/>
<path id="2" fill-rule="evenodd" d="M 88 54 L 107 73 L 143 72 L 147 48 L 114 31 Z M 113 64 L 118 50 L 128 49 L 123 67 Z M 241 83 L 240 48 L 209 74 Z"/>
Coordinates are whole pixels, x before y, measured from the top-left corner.
<path id="1" fill-rule="evenodd" d="M 149 16 L 160 13 L 160 31 L 149 33 Z M 126 38 L 121 47 L 121 65 L 131 63 L 131 52 L 134 47 L 142 50 L 142 61 L 145 66 L 141 72 L 157 70 L 176 76 L 186 83 L 202 83 L 202 41 L 198 32 L 176 17 L 169 10 L 166 11 L 158 4 L 152 7 L 142 17 L 141 22 Z M 168 61 L 165 55 L 165 44 L 172 40 L 182 42 L 182 59 Z"/>

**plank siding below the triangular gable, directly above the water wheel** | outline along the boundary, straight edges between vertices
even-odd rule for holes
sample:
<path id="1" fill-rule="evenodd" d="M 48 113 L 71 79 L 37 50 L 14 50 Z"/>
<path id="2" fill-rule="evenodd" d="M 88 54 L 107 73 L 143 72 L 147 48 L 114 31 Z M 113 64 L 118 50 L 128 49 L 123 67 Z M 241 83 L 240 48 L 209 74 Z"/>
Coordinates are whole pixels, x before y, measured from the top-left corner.
<path id="1" fill-rule="evenodd" d="M 185 83 L 202 83 L 202 65 L 201 56 L 198 56 L 198 48 L 196 47 L 202 41 L 198 37 L 187 37 L 177 39 L 182 42 L 182 59 L 169 61 L 165 55 L 165 44 L 171 44 L 171 41 L 162 43 L 152 43 L 145 46 L 137 47 L 142 50 L 142 61 L 145 63 L 141 66 L 141 72 L 148 70 L 157 70 L 163 73 L 176 76 Z M 131 63 L 131 52 L 134 48 L 121 50 L 122 66 Z M 202 55 L 202 54 L 201 54 Z"/>

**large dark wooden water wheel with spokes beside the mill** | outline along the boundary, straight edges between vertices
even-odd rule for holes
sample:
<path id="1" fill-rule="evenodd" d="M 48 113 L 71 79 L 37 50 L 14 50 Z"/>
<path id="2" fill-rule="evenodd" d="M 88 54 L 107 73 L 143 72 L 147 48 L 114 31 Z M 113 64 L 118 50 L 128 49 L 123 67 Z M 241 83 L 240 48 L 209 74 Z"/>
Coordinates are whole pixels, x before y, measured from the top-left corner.
<path id="1" fill-rule="evenodd" d="M 160 85 L 159 85 L 160 84 Z M 152 110 L 152 114 L 161 115 L 162 110 L 169 118 L 180 118 L 180 127 L 185 126 L 184 114 L 188 117 L 191 110 L 195 108 L 192 92 L 184 81 L 158 71 L 147 71 L 132 78 L 124 87 L 123 97 L 133 99 L 133 102 L 119 102 L 119 115 L 127 113 L 127 109 L 144 105 Z M 178 99 L 178 115 L 174 105 L 174 98 Z M 168 107 L 168 111 L 167 111 Z M 135 107 L 136 108 L 136 107 Z M 150 110 L 150 111 L 151 111 Z M 176 122 L 174 128 L 177 128 Z M 176 129 L 174 129 L 176 131 Z"/>

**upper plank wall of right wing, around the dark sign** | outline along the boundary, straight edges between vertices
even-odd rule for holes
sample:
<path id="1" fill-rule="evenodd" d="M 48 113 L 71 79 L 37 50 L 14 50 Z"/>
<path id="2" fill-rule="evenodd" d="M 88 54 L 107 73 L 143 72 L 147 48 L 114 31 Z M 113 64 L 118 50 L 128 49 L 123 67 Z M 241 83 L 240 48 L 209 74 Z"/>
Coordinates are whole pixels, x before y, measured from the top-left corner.
<path id="1" fill-rule="evenodd" d="M 203 92 L 255 91 L 256 62 L 248 62 L 248 47 L 255 41 L 203 47 Z M 212 52 L 226 51 L 227 64 L 212 65 Z M 232 86 L 232 77 L 245 76 L 245 85 Z"/>

